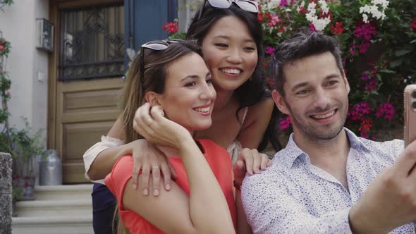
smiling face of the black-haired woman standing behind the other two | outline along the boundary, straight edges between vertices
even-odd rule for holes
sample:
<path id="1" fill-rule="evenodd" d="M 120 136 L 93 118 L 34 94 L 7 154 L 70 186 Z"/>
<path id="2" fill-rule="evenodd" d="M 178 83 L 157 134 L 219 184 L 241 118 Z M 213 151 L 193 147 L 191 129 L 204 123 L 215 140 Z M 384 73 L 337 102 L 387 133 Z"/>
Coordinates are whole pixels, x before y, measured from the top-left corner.
<path id="1" fill-rule="evenodd" d="M 236 90 L 257 65 L 255 40 L 235 16 L 225 16 L 212 25 L 202 41 L 202 52 L 216 89 Z"/>

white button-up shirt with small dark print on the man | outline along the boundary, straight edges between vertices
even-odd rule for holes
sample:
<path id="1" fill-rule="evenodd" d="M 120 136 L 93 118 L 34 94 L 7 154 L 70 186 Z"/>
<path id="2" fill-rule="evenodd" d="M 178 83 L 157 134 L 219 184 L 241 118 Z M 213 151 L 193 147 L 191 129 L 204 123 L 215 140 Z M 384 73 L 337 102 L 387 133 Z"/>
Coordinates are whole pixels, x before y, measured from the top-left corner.
<path id="1" fill-rule="evenodd" d="M 383 168 L 403 152 L 402 140 L 374 142 L 344 128 L 350 140 L 348 190 L 313 166 L 290 135 L 272 166 L 243 181 L 243 207 L 253 233 L 351 233 L 348 213 Z M 415 233 L 413 223 L 391 233 Z"/>

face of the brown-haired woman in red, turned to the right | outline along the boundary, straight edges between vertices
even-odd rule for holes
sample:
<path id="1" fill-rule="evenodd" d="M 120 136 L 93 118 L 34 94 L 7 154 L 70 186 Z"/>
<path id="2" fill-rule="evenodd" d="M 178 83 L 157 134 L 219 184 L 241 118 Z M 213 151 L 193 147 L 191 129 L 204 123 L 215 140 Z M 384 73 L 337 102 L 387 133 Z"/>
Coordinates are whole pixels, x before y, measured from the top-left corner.
<path id="1" fill-rule="evenodd" d="M 204 60 L 192 53 L 173 61 L 167 68 L 164 93 L 159 103 L 166 117 L 188 130 L 211 126 L 216 92 Z"/>

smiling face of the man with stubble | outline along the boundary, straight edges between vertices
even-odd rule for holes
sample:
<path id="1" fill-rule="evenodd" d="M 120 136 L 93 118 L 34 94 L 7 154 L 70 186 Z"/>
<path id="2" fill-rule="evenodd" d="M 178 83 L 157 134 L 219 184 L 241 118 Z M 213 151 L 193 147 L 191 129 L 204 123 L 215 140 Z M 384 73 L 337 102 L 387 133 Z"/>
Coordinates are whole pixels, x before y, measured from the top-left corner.
<path id="1" fill-rule="evenodd" d="M 350 86 L 331 52 L 283 66 L 285 97 L 274 90 L 279 110 L 290 116 L 295 139 L 329 140 L 336 137 L 348 113 Z"/>

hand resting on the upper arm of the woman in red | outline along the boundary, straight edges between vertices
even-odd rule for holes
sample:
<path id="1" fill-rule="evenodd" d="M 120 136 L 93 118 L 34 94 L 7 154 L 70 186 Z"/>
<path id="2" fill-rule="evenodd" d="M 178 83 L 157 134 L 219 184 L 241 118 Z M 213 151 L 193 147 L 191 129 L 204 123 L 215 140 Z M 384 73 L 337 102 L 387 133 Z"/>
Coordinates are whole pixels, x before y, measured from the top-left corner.
<path id="1" fill-rule="evenodd" d="M 169 163 L 169 159 L 154 145 L 147 140 L 140 139 L 128 143 L 133 155 L 133 189 L 140 190 L 143 195 L 149 194 L 149 178 L 152 173 L 153 188 L 152 194 L 159 195 L 159 180 L 163 175 L 165 190 L 171 190 L 171 178 L 176 178 L 176 172 Z M 142 173 L 139 175 L 140 171 Z M 140 180 L 140 183 L 139 183 Z"/>

